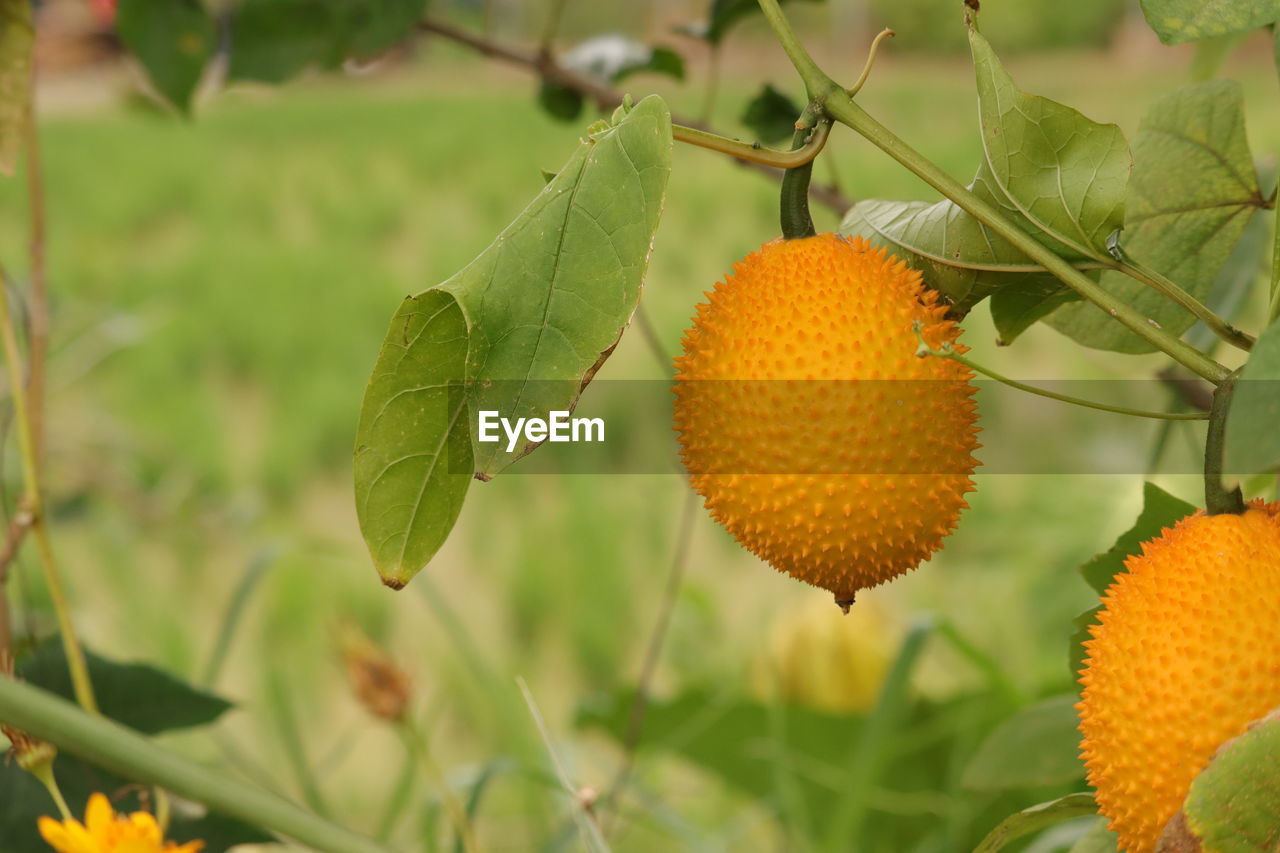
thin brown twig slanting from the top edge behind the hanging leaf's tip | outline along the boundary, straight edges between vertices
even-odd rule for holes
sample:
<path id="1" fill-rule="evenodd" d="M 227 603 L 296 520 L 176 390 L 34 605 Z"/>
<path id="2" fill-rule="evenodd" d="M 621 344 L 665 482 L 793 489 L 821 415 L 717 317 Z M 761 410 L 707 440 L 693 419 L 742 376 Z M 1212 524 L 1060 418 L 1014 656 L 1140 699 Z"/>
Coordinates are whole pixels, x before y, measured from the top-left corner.
<path id="1" fill-rule="evenodd" d="M 509 45 L 500 45 L 443 20 L 421 20 L 419 22 L 417 28 L 420 32 L 440 36 L 456 44 L 463 45 L 465 47 L 470 47 L 483 56 L 498 59 L 508 65 L 516 65 L 517 68 L 534 72 L 543 79 L 556 83 L 557 86 L 571 88 L 588 100 L 595 102 L 596 108 L 602 111 L 612 110 L 622 102 L 622 92 L 585 74 L 579 74 L 572 69 L 564 68 L 550 55 L 526 51 Z M 694 131 L 701 131 L 704 133 L 713 132 L 705 123 L 692 118 L 673 115 L 672 120 Z M 751 169 L 753 172 L 767 174 L 774 181 L 782 179 L 782 170 L 780 169 L 774 169 L 760 163 L 751 163 L 750 160 L 737 156 L 733 156 L 733 161 L 746 169 Z M 810 187 L 809 197 L 841 216 L 845 211 L 854 206 L 854 202 L 833 186 Z"/>

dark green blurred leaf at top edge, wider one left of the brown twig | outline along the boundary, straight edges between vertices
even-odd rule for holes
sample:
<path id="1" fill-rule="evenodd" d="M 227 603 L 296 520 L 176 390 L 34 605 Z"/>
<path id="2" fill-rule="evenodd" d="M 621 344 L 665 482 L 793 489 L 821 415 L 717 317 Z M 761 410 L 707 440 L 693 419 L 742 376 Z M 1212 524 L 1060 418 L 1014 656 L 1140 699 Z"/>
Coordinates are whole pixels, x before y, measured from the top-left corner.
<path id="1" fill-rule="evenodd" d="M 280 83 L 403 41 L 426 0 L 243 0 L 230 15 L 229 81 Z"/>

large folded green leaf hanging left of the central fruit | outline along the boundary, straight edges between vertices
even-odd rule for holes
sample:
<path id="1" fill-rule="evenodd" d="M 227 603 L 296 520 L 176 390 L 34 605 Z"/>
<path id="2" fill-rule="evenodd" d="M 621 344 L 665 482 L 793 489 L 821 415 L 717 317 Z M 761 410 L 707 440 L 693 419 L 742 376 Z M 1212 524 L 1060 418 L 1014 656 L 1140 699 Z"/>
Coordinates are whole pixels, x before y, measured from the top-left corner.
<path id="1" fill-rule="evenodd" d="M 435 555 L 472 475 L 532 450 L 480 441 L 477 412 L 572 411 L 635 311 L 669 170 L 666 104 L 625 106 L 476 260 L 403 302 L 356 438 L 356 510 L 384 583 Z"/>

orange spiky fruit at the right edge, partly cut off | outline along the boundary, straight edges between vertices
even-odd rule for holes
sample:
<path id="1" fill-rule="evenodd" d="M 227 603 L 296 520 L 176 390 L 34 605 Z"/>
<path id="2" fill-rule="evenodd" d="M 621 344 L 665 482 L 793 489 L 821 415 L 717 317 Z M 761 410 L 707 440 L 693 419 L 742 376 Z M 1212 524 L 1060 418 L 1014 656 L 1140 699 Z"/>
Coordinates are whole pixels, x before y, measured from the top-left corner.
<path id="1" fill-rule="evenodd" d="M 1085 642 L 1080 749 L 1125 853 L 1151 853 L 1224 742 L 1280 706 L 1280 503 L 1146 542 Z"/>

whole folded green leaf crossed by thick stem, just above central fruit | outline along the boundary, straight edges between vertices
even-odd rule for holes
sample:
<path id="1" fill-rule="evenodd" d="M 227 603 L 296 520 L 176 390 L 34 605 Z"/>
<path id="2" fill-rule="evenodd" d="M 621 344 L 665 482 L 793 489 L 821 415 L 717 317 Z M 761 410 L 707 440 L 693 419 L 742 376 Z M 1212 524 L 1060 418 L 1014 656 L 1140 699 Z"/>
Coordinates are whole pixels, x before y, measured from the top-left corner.
<path id="1" fill-rule="evenodd" d="M 1129 150 L 1114 124 L 1018 90 L 995 51 L 970 29 L 983 160 L 969 188 L 1082 269 L 1108 264 L 1120 227 Z M 1066 143 L 1064 143 L 1064 140 Z M 1076 295 L 951 201 L 863 201 L 841 233 L 887 246 L 964 311 L 987 296 L 1001 338 Z"/>

